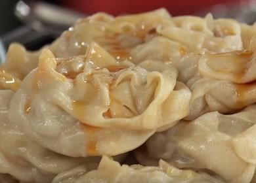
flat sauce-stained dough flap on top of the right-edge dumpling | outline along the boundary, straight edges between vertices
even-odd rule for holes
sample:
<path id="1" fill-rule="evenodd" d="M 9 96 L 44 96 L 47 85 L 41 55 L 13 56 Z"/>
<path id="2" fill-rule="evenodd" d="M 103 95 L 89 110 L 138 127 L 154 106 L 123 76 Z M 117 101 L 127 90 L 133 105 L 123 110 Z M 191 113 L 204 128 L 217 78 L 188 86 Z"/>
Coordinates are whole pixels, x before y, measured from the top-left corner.
<path id="1" fill-rule="evenodd" d="M 256 80 L 255 54 L 248 50 L 205 54 L 200 58 L 198 70 L 204 77 L 246 84 Z"/>

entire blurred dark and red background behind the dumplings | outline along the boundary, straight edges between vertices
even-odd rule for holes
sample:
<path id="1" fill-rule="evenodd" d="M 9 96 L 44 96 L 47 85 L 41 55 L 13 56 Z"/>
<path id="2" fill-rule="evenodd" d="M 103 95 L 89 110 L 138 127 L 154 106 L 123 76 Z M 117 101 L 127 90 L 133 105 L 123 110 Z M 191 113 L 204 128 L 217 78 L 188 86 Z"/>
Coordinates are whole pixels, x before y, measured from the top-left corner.
<path id="1" fill-rule="evenodd" d="M 256 0 L 0 0 L 0 54 L 12 41 L 36 50 L 53 41 L 77 18 L 95 12 L 117 16 L 160 7 L 173 16 L 212 12 L 215 18 L 236 18 L 247 24 L 256 20 Z"/>

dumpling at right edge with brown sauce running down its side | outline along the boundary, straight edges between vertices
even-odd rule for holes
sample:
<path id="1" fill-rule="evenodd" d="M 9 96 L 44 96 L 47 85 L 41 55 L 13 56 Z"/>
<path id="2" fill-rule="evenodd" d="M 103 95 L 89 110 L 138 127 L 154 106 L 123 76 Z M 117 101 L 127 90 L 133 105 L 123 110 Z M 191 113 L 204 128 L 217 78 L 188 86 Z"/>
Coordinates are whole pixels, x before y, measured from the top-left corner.
<path id="1" fill-rule="evenodd" d="M 192 91 L 186 119 L 215 110 L 228 114 L 256 102 L 255 52 L 198 52 L 174 63 L 181 71 L 178 80 Z"/>

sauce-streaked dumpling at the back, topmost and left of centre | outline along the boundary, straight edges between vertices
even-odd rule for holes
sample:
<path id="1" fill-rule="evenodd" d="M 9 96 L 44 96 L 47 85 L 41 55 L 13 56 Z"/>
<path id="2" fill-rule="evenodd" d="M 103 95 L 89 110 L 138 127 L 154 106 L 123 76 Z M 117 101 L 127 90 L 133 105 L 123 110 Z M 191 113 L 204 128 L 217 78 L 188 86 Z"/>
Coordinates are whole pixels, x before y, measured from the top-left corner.
<path id="1" fill-rule="evenodd" d="M 94 41 L 116 59 L 131 59 L 131 48 L 150 39 L 157 27 L 173 25 L 164 8 L 116 18 L 97 13 L 77 21 L 50 47 L 57 57 L 70 57 L 85 54 L 87 46 Z"/>

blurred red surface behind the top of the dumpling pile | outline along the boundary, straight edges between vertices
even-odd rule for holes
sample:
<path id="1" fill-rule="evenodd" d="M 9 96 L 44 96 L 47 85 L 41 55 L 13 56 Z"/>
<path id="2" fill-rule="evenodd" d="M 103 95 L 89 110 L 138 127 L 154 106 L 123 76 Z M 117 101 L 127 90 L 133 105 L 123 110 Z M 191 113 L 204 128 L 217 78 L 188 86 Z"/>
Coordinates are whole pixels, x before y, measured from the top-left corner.
<path id="1" fill-rule="evenodd" d="M 108 12 L 113 15 L 131 14 L 165 7 L 173 16 L 193 14 L 198 10 L 222 3 L 237 3 L 240 0 L 64 0 L 67 7 L 93 14 Z"/>

